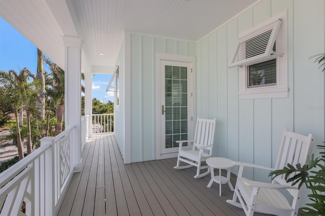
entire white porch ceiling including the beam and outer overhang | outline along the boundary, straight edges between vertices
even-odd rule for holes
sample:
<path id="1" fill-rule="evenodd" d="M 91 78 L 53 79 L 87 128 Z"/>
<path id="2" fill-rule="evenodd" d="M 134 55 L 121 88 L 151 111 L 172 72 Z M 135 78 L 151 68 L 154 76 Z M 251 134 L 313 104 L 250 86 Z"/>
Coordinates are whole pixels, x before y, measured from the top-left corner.
<path id="1" fill-rule="evenodd" d="M 124 31 L 198 41 L 256 1 L 2 0 L 0 16 L 62 68 L 61 36 L 80 37 L 90 71 L 114 66 Z"/>

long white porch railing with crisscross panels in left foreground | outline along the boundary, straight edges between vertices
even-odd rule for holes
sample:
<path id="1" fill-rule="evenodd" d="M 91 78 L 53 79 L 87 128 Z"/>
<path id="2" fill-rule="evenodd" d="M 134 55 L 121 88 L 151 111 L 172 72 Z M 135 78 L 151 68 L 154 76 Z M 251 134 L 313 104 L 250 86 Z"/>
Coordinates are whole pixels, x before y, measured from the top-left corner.
<path id="1" fill-rule="evenodd" d="M 73 176 L 73 129 L 42 138 L 40 148 L 0 174 L 0 215 L 57 213 Z"/>

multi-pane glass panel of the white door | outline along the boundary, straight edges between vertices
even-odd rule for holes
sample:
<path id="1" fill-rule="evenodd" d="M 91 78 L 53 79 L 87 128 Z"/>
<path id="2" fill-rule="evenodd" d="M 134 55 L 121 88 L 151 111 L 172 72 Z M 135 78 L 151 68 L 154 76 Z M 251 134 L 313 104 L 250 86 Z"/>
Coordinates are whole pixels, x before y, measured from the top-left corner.
<path id="1" fill-rule="evenodd" d="M 165 106 L 165 146 L 177 148 L 187 139 L 187 67 L 165 65 Z"/>

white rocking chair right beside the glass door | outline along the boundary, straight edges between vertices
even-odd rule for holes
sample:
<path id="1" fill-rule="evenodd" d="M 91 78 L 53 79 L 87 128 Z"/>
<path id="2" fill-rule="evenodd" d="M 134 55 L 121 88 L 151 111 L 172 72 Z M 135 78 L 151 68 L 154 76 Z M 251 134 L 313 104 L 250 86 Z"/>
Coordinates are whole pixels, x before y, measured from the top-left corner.
<path id="1" fill-rule="evenodd" d="M 181 140 L 179 142 L 178 158 L 175 169 L 185 169 L 192 166 L 198 167 L 197 174 L 194 178 L 200 178 L 210 173 L 209 166 L 201 166 L 201 162 L 206 161 L 212 154 L 213 139 L 214 139 L 215 119 L 199 119 L 194 134 L 194 140 Z M 192 142 L 192 150 L 184 150 L 183 143 Z M 180 166 L 180 161 L 189 165 Z M 208 171 L 200 174 L 201 169 Z"/>

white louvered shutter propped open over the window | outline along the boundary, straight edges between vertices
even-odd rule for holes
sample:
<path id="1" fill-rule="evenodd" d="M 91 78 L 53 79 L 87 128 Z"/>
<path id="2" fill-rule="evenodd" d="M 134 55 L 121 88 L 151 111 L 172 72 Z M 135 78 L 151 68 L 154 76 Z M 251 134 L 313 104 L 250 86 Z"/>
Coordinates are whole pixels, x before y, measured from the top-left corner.
<path id="1" fill-rule="evenodd" d="M 274 54 L 272 48 L 275 43 L 281 20 L 253 29 L 250 33 L 242 35 L 238 39 L 237 48 L 229 67 L 249 65 L 263 61 Z"/>

